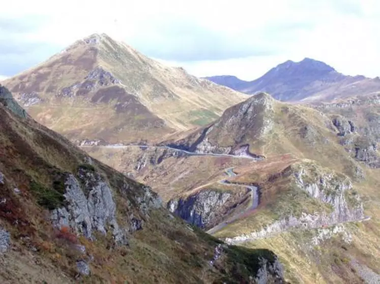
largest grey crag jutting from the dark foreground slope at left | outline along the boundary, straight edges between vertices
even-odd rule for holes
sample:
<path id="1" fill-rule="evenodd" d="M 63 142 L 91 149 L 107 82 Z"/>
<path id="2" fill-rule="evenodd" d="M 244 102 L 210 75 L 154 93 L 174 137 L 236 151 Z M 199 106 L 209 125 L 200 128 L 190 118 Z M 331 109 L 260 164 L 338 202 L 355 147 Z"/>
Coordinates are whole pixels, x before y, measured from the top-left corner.
<path id="1" fill-rule="evenodd" d="M 109 185 L 96 172 L 80 168 L 78 177 L 68 175 L 65 186 L 67 208 L 54 209 L 51 213 L 55 227 L 70 226 L 79 234 L 92 238 L 93 231 L 106 234 L 106 225 L 112 228 L 116 243 L 127 243 L 115 218 L 116 205 Z"/>

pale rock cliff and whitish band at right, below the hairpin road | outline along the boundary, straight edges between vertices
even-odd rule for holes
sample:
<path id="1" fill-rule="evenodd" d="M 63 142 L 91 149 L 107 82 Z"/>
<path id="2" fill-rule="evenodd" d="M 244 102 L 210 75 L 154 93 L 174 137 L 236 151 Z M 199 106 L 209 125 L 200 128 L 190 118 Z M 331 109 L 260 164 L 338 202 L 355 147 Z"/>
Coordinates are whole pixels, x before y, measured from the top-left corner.
<path id="1" fill-rule="evenodd" d="M 292 175 L 298 188 L 307 192 L 310 198 L 330 205 L 332 212 L 302 212 L 300 216 L 286 216 L 261 230 L 226 238 L 226 243 L 236 244 L 266 238 L 292 228 L 312 229 L 364 219 L 363 203 L 359 195 L 353 191 L 352 183 L 347 177 L 338 176 L 333 172 L 316 174 L 312 168 L 304 168 L 301 165 L 296 168 L 290 166 L 282 174 Z"/>

